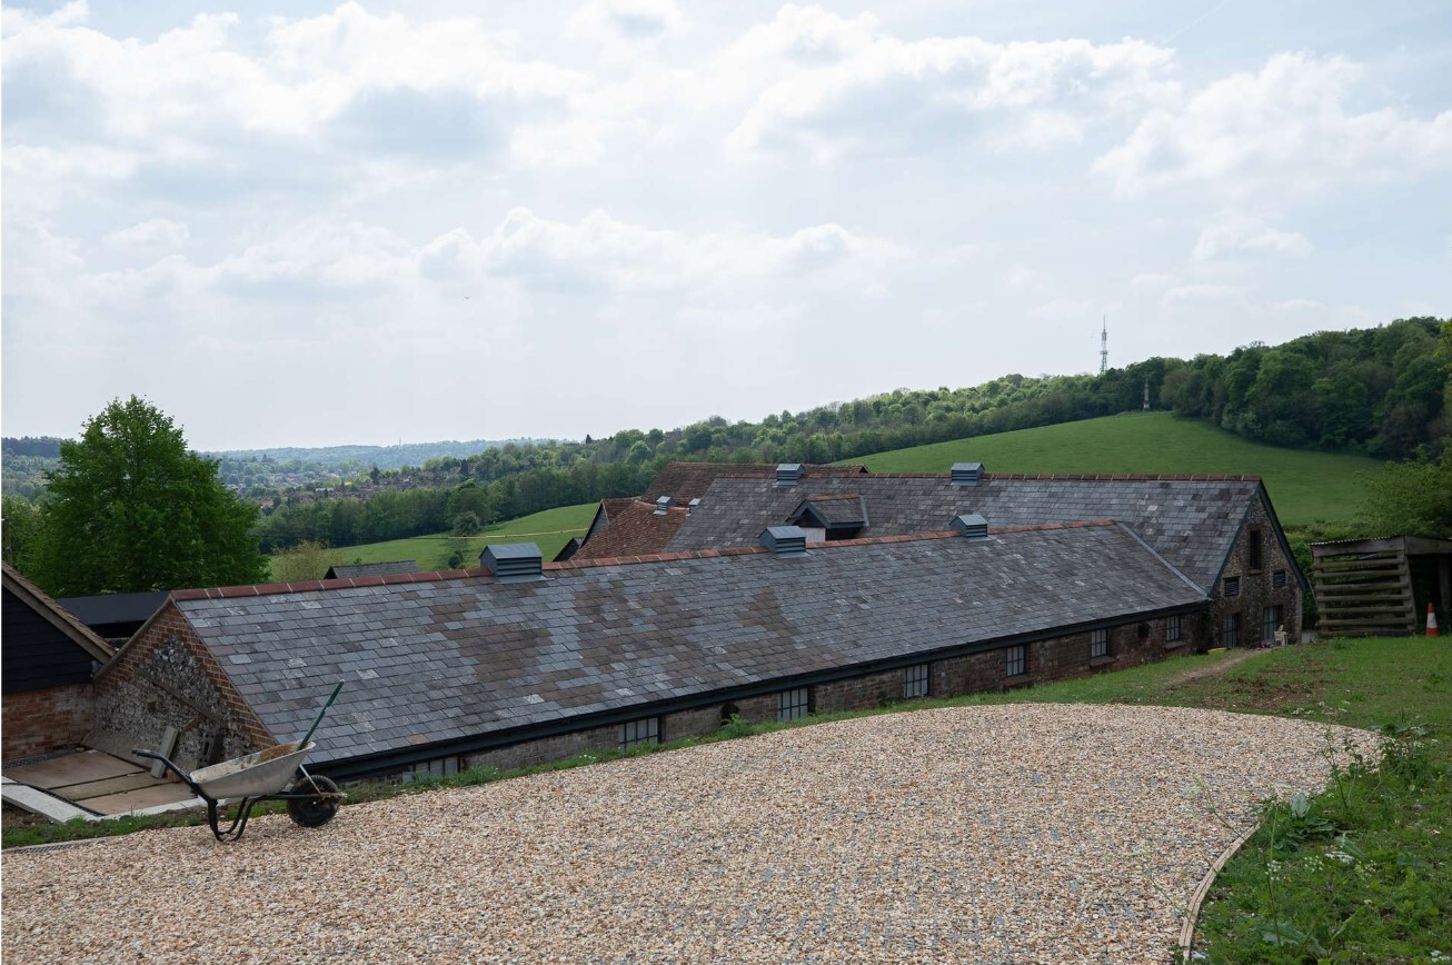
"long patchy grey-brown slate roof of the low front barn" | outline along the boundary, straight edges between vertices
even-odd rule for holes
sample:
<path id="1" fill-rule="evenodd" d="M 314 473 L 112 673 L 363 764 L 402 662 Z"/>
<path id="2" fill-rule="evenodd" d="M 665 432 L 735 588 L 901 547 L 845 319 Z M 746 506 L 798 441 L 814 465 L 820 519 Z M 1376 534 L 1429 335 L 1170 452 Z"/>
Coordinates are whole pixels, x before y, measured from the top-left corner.
<path id="1" fill-rule="evenodd" d="M 1096 562 L 1093 573 L 1085 560 Z M 485 570 L 415 573 L 182 591 L 173 601 L 277 739 L 302 733 L 343 681 L 314 757 L 353 759 L 353 772 L 376 768 L 369 756 L 424 760 L 581 715 L 642 717 L 649 704 L 771 692 L 783 678 L 797 685 L 803 675 L 1205 605 L 1108 522 L 980 541 L 848 540 L 796 559 L 742 549 L 635 564 L 571 560 L 547 564 L 546 578 L 505 585 Z"/>

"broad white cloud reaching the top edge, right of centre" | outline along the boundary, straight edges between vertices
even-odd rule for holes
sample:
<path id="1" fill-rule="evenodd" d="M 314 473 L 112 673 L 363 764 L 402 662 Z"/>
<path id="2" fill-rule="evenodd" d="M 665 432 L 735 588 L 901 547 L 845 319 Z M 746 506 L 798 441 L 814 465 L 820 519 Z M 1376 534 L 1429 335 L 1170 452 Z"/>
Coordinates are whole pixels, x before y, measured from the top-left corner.
<path id="1" fill-rule="evenodd" d="M 1141 41 L 998 44 L 903 41 L 870 15 L 786 6 L 723 61 L 771 77 L 727 145 L 739 155 L 803 151 L 819 163 L 989 141 L 1077 141 L 1086 126 L 1173 96 L 1173 52 Z"/>

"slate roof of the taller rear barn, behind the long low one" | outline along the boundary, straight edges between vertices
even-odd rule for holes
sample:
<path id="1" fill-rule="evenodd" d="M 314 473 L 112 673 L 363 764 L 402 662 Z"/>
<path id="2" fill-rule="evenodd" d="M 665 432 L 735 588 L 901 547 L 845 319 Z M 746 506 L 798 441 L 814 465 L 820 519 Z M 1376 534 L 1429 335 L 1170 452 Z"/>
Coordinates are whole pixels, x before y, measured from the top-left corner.
<path id="1" fill-rule="evenodd" d="M 1253 476 L 984 475 L 977 486 L 953 486 L 948 476 L 807 476 L 796 486 L 720 477 L 666 549 L 752 546 L 762 528 L 787 522 L 803 499 L 861 495 L 864 537 L 944 530 L 953 517 L 971 512 L 990 527 L 1118 520 L 1210 589 L 1257 492 Z"/>

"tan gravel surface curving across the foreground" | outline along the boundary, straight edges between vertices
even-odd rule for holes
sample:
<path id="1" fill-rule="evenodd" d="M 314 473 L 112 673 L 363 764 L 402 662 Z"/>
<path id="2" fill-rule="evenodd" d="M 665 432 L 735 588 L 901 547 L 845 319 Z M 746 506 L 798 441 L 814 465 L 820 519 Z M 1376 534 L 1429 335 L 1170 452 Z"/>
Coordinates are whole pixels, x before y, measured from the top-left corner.
<path id="1" fill-rule="evenodd" d="M 1019 704 L 4 856 L 13 962 L 1169 962 L 1270 794 L 1375 739 Z"/>

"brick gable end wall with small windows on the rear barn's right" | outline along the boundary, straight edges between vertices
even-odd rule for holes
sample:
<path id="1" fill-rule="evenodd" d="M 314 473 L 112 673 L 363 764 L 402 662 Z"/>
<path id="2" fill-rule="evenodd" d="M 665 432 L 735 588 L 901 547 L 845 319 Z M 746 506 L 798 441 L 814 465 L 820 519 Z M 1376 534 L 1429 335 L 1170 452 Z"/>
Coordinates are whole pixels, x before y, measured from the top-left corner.
<path id="1" fill-rule="evenodd" d="M 1255 567 L 1252 544 L 1260 544 L 1260 566 Z M 1285 586 L 1273 586 L 1273 575 L 1285 573 Z M 1220 585 L 1215 586 L 1214 627 L 1212 638 L 1218 646 L 1227 646 L 1224 638 L 1225 617 L 1240 614 L 1240 640 L 1237 646 L 1256 646 L 1262 643 L 1262 618 L 1265 608 L 1281 607 L 1281 624 L 1291 643 L 1301 640 L 1301 583 L 1295 578 L 1295 560 L 1288 557 L 1281 549 L 1281 541 L 1275 538 L 1275 528 L 1270 524 L 1270 514 L 1265 502 L 1255 501 L 1246 525 L 1240 530 L 1230 557 L 1225 562 Z M 1225 596 L 1225 579 L 1239 578 L 1240 592 L 1236 596 Z"/>

